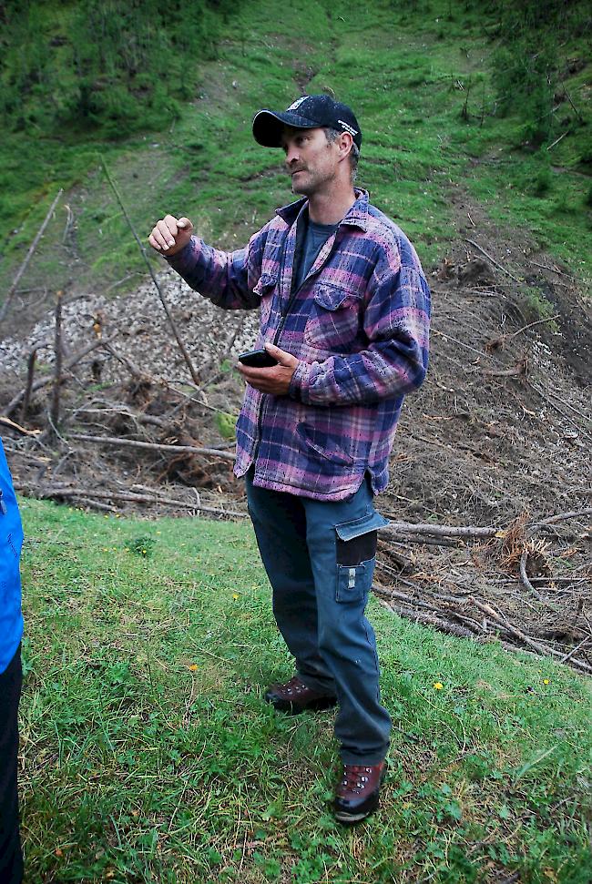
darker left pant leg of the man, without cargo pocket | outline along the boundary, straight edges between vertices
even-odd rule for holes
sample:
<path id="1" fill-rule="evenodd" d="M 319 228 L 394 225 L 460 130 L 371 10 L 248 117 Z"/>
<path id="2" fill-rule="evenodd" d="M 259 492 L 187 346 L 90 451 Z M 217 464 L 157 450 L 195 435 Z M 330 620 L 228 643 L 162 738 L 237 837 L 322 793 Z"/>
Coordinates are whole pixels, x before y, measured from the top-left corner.
<path id="1" fill-rule="evenodd" d="M 332 694 L 332 675 L 319 654 L 316 589 L 302 499 L 253 485 L 252 471 L 247 473 L 246 487 L 261 560 L 273 590 L 278 628 L 304 684 Z"/>

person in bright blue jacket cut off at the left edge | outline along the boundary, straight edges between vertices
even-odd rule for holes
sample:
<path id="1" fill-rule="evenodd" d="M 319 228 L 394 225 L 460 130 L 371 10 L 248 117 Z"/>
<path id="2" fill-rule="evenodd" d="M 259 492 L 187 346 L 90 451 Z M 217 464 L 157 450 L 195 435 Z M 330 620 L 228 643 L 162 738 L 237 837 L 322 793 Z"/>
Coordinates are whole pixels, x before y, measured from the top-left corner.
<path id="1" fill-rule="evenodd" d="M 23 529 L 0 440 L 0 884 L 20 884 L 23 857 L 18 831 L 16 764 L 18 701 L 23 674 L 21 581 Z"/>

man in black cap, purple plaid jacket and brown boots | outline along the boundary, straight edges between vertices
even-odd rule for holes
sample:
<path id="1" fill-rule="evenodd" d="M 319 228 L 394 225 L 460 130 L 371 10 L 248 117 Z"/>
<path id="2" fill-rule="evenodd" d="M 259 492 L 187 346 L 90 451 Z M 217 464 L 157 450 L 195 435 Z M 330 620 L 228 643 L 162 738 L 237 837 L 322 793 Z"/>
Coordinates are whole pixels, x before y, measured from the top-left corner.
<path id="1" fill-rule="evenodd" d="M 391 727 L 364 617 L 386 523 L 373 495 L 388 480 L 403 396 L 424 380 L 430 292 L 409 240 L 353 187 L 362 134 L 351 108 L 303 96 L 260 111 L 253 135 L 283 148 L 303 198 L 230 254 L 171 215 L 148 241 L 219 307 L 260 308 L 257 346 L 277 364 L 238 366 L 235 472 L 296 661 L 265 699 L 291 713 L 339 705 L 334 810 L 353 823 L 378 805 Z"/>

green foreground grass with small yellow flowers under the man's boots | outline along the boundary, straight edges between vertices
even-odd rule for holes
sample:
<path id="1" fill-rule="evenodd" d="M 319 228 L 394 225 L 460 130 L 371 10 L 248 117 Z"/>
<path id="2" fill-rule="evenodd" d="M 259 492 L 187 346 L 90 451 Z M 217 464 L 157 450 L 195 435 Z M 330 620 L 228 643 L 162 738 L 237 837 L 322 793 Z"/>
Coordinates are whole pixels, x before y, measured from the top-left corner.
<path id="1" fill-rule="evenodd" d="M 27 880 L 590 879 L 590 691 L 566 667 L 372 600 L 389 779 L 343 829 L 332 715 L 262 702 L 291 661 L 248 524 L 22 511 Z"/>

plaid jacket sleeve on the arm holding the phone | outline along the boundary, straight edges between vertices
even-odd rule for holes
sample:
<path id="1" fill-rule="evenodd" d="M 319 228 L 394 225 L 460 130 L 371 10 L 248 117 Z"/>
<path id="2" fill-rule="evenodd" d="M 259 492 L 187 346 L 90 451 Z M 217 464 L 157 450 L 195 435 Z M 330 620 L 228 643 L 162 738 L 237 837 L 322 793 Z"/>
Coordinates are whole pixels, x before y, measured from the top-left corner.
<path id="1" fill-rule="evenodd" d="M 374 271 L 363 317 L 368 347 L 322 362 L 300 361 L 290 395 L 305 405 L 372 404 L 421 386 L 427 371 L 430 290 L 410 266 Z"/>

